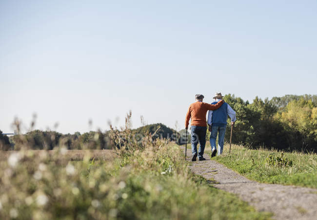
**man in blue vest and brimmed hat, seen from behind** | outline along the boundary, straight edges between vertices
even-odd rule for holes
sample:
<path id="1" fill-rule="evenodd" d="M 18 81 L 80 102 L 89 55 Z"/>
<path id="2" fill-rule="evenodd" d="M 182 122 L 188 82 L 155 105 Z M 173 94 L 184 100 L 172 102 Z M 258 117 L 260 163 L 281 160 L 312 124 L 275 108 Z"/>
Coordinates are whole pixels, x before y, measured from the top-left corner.
<path id="1" fill-rule="evenodd" d="M 222 100 L 223 96 L 221 92 L 216 92 L 214 99 L 215 102 L 211 104 L 215 104 L 218 101 Z M 208 112 L 208 129 L 210 131 L 210 145 L 212 154 L 211 157 L 216 156 L 217 147 L 216 147 L 216 139 L 218 136 L 218 155 L 222 154 L 223 143 L 224 143 L 224 134 L 226 132 L 227 126 L 227 116 L 231 118 L 231 125 L 235 124 L 236 121 L 236 112 L 227 104 L 224 103 L 218 110 L 209 110 Z"/>

